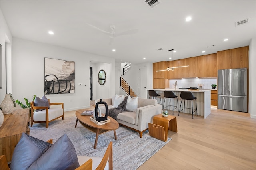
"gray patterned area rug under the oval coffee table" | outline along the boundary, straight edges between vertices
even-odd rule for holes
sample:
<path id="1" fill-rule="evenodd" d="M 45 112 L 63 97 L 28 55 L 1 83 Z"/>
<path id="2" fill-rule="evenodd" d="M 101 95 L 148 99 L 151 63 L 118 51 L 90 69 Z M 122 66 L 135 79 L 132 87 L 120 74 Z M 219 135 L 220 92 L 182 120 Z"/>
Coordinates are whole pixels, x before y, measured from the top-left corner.
<path id="1" fill-rule="evenodd" d="M 138 132 L 120 126 L 116 130 L 117 140 L 114 138 L 114 132 L 106 132 L 99 135 L 97 148 L 94 149 L 95 133 L 84 128 L 76 117 L 61 118 L 49 123 L 45 128 L 45 123 L 34 123 L 30 127 L 30 136 L 40 140 L 47 141 L 53 139 L 53 143 L 63 134 L 67 134 L 78 156 L 103 157 L 110 141 L 113 142 L 113 169 L 114 170 L 135 170 L 160 148 L 167 144 L 156 138 L 149 136 L 148 130 L 140 138 Z"/>

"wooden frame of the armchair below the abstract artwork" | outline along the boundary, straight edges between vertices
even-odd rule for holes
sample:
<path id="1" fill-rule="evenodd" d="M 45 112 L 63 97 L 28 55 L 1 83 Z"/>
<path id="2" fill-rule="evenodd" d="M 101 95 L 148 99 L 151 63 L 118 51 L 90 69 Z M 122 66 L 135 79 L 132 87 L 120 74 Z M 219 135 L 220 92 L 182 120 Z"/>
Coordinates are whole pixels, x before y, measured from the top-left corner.
<path id="1" fill-rule="evenodd" d="M 63 114 L 62 116 L 56 117 L 55 119 L 52 119 L 49 121 L 49 112 L 48 112 L 48 107 L 47 106 L 35 106 L 34 101 L 30 102 L 30 107 L 31 107 L 31 127 L 33 123 L 46 123 L 46 128 L 48 128 L 49 122 L 54 121 L 56 119 L 59 119 L 62 117 L 62 120 L 64 120 L 64 103 L 50 103 L 50 99 L 48 99 L 49 105 L 62 105 L 63 109 Z M 46 121 L 34 121 L 33 116 L 34 116 L 34 110 L 36 109 L 46 109 L 46 115 L 45 115 L 45 120 Z"/>

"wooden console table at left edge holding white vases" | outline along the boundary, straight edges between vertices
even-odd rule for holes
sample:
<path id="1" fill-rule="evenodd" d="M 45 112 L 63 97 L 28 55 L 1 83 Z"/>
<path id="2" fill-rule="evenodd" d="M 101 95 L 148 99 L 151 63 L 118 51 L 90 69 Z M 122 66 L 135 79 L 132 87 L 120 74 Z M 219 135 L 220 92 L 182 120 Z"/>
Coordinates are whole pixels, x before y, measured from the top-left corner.
<path id="1" fill-rule="evenodd" d="M 29 109 L 16 109 L 4 115 L 4 123 L 0 128 L 0 155 L 6 155 L 8 163 L 12 160 L 15 146 L 21 134 L 29 134 Z"/>

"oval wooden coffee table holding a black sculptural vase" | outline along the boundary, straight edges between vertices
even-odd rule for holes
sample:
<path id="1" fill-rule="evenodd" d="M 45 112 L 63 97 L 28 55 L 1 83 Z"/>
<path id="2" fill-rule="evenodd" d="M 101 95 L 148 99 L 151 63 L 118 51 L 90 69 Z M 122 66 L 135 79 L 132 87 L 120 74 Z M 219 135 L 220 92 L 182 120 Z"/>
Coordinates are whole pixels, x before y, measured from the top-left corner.
<path id="1" fill-rule="evenodd" d="M 110 130 L 113 130 L 114 135 L 115 135 L 115 139 L 117 140 L 116 129 L 119 127 L 119 124 L 115 119 L 108 116 L 108 118 L 110 119 L 110 123 L 105 123 L 104 125 L 96 125 L 96 123 L 93 123 L 92 121 L 90 121 L 90 117 L 92 117 L 92 115 L 81 116 L 81 113 L 84 112 L 84 111 L 86 111 L 86 109 L 80 109 L 80 110 L 76 111 L 76 118 L 77 118 L 76 119 L 76 125 L 77 125 L 77 121 L 79 121 L 81 123 L 81 125 L 83 125 L 83 127 L 85 127 L 88 130 L 96 133 L 94 149 L 96 149 L 96 147 L 97 147 L 99 134 L 103 134 L 103 133 L 106 133 Z M 75 126 L 75 128 L 76 128 L 76 126 Z"/>

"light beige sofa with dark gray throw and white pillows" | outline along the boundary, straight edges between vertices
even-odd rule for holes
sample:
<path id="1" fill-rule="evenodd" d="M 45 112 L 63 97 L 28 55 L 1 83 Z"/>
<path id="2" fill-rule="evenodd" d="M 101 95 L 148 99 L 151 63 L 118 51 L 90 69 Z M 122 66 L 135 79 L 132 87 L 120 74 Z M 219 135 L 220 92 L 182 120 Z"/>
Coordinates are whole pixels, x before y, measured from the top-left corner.
<path id="1" fill-rule="evenodd" d="M 108 105 L 108 109 L 114 108 L 112 98 L 102 99 Z M 100 99 L 95 102 L 99 102 Z M 101 109 L 102 113 L 106 113 L 104 105 L 98 105 Z M 136 112 L 124 111 L 118 114 L 117 122 L 124 126 L 128 127 L 132 130 L 135 130 L 140 134 L 140 138 L 142 138 L 142 134 L 144 131 L 148 129 L 148 123 L 152 123 L 154 115 L 160 114 L 162 111 L 162 105 L 159 105 L 156 99 L 144 99 L 138 98 L 138 108 Z"/>

